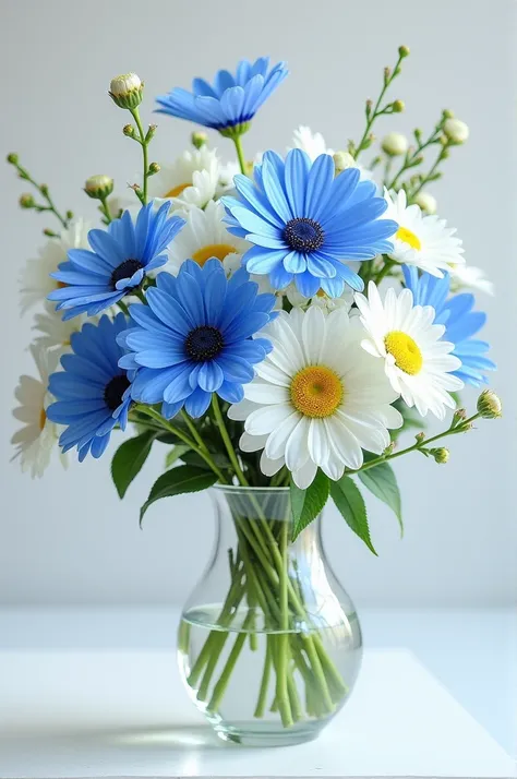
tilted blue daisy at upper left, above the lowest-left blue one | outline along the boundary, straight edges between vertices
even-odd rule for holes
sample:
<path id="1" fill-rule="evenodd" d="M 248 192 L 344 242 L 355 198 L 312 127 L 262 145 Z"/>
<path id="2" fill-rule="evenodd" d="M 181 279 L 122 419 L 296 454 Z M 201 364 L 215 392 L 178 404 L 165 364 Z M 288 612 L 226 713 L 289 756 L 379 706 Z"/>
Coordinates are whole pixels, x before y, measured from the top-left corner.
<path id="1" fill-rule="evenodd" d="M 94 316 L 139 287 L 149 271 L 167 262 L 165 250 L 183 227 L 184 219 L 167 218 L 170 203 L 142 207 L 133 223 L 125 211 L 107 230 L 89 230 L 93 251 L 71 249 L 68 261 L 50 275 L 63 286 L 48 296 L 64 310 L 63 320 L 87 313 Z"/>

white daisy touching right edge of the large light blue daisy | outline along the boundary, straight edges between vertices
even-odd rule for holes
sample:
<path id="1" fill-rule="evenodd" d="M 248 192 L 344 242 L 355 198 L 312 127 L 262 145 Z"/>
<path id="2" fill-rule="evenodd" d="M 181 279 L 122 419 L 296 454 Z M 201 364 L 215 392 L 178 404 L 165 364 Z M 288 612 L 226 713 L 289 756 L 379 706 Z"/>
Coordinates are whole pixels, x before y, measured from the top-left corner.
<path id="1" fill-rule="evenodd" d="M 438 278 L 450 264 L 465 263 L 461 240 L 455 237 L 456 230 L 447 227 L 445 219 L 434 214 L 424 216 L 416 203 L 408 206 L 404 190 L 392 195 L 385 189 L 384 196 L 388 207 L 383 218 L 398 223 L 398 230 L 390 239 L 394 250 L 389 256 L 393 260 L 417 265 Z"/>

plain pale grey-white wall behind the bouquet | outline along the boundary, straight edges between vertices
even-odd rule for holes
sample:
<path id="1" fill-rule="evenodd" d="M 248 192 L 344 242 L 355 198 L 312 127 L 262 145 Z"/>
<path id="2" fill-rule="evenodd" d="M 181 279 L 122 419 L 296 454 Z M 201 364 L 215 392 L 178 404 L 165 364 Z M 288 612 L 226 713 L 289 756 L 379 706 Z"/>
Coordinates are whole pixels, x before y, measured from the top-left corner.
<path id="1" fill-rule="evenodd" d="M 139 148 L 121 133 L 127 115 L 106 94 L 110 77 L 128 70 L 146 83 L 144 120 L 159 123 L 152 152 L 157 161 L 178 155 L 192 127 L 153 116 L 153 97 L 264 53 L 286 59 L 291 75 L 244 137 L 249 157 L 284 148 L 300 123 L 320 130 L 335 148 L 358 139 L 364 98 L 376 97 L 382 69 L 393 64 L 400 44 L 410 46 L 411 57 L 393 97 L 402 98 L 407 111 L 382 120 L 377 132 L 426 131 L 445 107 L 470 125 L 471 139 L 455 149 L 433 192 L 465 241 L 467 261 L 484 266 L 496 285 L 497 297 L 480 296 L 479 304 L 489 313 L 484 335 L 500 364 L 493 385 L 505 418 L 452 441 L 447 466 L 417 455 L 397 463 L 406 537 L 399 540 L 395 518 L 372 500 L 378 559 L 328 511 L 330 556 L 359 606 L 503 606 L 515 599 L 514 8 L 504 0 L 0 3 L 0 149 L 19 152 L 51 185 L 57 203 L 76 214 L 95 215 L 81 191 L 87 176 L 110 173 L 122 191 L 139 170 Z M 228 141 L 214 143 L 231 155 Z M 139 530 L 137 508 L 159 474 L 161 451 L 124 503 L 110 483 L 109 452 L 100 462 L 72 462 L 67 474 L 56 462 L 38 482 L 9 464 L 8 440 L 16 428 L 12 393 L 19 374 L 32 372 L 24 351 L 32 322 L 19 315 L 17 278 L 44 240 L 41 228 L 51 225 L 17 208 L 23 189 L 2 166 L 0 602 L 181 602 L 207 559 L 213 519 L 207 494 L 185 496 L 154 506 Z M 472 405 L 476 394 L 466 398 Z"/>

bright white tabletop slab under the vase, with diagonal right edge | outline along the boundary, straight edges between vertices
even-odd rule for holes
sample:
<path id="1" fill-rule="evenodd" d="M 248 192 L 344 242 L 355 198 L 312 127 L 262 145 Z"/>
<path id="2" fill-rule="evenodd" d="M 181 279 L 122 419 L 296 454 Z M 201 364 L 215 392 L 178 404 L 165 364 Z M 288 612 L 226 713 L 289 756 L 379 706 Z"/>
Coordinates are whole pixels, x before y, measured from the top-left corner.
<path id="1" fill-rule="evenodd" d="M 2 778 L 517 776 L 503 747 L 404 649 L 366 650 L 350 702 L 316 741 L 250 750 L 212 733 L 173 651 L 38 648 L 33 635 L 33 647 L 0 650 Z"/>

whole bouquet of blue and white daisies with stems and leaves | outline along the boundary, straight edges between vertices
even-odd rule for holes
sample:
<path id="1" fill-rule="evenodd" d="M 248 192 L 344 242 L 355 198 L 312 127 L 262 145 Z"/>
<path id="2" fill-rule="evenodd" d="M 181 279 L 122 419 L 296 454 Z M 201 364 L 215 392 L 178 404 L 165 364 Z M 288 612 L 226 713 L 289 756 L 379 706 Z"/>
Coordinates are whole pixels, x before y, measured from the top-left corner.
<path id="1" fill-rule="evenodd" d="M 389 132 L 376 145 L 373 135 L 377 120 L 405 109 L 387 93 L 408 55 L 398 49 L 378 99 L 366 100 L 359 141 L 334 152 L 300 127 L 287 152 L 253 161 L 243 139 L 286 80 L 284 62 L 243 60 L 213 83 L 194 79 L 192 92 L 157 98 L 158 113 L 232 143 L 237 161 L 226 164 L 197 130 L 176 161 L 151 161 L 157 128 L 143 127 L 144 85 L 134 73 L 113 79 L 109 95 L 131 115 L 123 134 L 140 147 L 143 170 L 130 185 L 132 202 L 113 195 L 109 176 L 86 181 L 99 226 L 58 211 L 49 188 L 17 155 L 8 157 L 35 190 L 21 205 L 59 223 L 44 230 L 48 241 L 22 279 L 23 310 L 45 307 L 31 347 L 39 379 L 22 376 L 16 389 L 22 467 L 41 476 L 58 442 L 63 457 L 75 448 L 80 462 L 98 458 L 130 423 L 111 463 L 121 498 L 151 448 L 165 447 L 141 522 L 156 501 L 215 484 L 287 495 L 281 512 L 252 496 L 249 526 L 240 522 L 239 490 L 230 502 L 237 546 L 227 596 L 188 669 L 194 696 L 215 718 L 243 645 L 239 636 L 224 655 L 228 630 L 244 604 L 252 649 L 258 620 L 273 625 L 255 717 L 264 716 L 273 673 L 272 710 L 282 728 L 340 706 L 347 682 L 312 631 L 289 550 L 332 499 L 374 552 L 361 489 L 401 524 L 390 462 L 417 452 L 446 463 L 442 439 L 501 415 L 489 389 L 476 412 L 459 407 L 464 385 L 482 387 L 495 368 L 477 337 L 485 314 L 462 290 L 492 288 L 466 264 L 461 240 L 426 190 L 468 127 L 444 110 L 411 142 Z M 425 419 L 444 421 L 448 410 L 442 432 L 428 436 Z M 410 428 L 416 439 L 402 446 Z M 294 623 L 305 625 L 303 636 Z"/>

